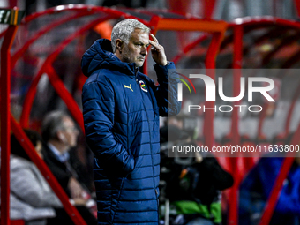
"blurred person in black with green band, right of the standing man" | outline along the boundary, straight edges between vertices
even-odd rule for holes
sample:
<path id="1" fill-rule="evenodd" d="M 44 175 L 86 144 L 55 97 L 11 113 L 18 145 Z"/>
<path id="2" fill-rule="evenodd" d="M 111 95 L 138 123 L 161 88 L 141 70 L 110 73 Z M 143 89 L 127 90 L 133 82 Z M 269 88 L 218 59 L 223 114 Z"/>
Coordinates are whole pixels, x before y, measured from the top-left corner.
<path id="1" fill-rule="evenodd" d="M 169 148 L 199 146 L 192 139 L 191 130 L 180 129 L 173 122 L 161 128 L 161 140 L 168 139 Z M 221 191 L 233 185 L 233 177 L 221 168 L 212 154 L 177 153 L 172 158 L 165 150 L 172 150 L 162 149 L 161 152 L 161 180 L 165 181 L 161 195 L 169 200 L 169 224 L 221 224 Z"/>

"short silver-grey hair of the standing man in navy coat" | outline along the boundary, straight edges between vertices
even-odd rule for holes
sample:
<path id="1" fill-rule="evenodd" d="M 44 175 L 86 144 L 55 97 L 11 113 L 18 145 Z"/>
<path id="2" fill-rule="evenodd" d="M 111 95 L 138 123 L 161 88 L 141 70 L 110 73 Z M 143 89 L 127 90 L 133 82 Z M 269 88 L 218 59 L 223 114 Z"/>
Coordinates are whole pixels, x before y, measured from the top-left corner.
<path id="1" fill-rule="evenodd" d="M 150 33 L 150 28 L 139 22 L 137 19 L 124 19 L 114 26 L 111 32 L 111 47 L 113 49 L 113 53 L 116 52 L 116 39 L 121 39 L 128 44 L 131 34 L 135 29 L 141 29 L 148 34 Z"/>

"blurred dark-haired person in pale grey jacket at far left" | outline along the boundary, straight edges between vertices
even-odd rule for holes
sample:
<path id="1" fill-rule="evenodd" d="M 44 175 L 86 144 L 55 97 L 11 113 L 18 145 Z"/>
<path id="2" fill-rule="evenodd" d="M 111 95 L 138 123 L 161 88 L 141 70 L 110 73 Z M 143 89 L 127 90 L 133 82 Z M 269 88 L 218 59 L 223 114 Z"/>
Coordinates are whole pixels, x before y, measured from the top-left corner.
<path id="1" fill-rule="evenodd" d="M 41 136 L 25 130 L 37 154 L 41 155 Z M 62 207 L 56 194 L 30 160 L 19 141 L 11 135 L 11 219 L 24 220 L 26 225 L 46 225 L 47 218 L 55 217 L 53 207 Z"/>

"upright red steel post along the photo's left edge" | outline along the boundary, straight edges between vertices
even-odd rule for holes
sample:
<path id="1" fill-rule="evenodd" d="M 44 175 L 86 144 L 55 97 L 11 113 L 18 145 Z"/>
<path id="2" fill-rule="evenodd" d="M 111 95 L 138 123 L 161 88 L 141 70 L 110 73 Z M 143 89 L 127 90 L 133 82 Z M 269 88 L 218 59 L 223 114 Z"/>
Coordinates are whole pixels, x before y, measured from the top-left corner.
<path id="1" fill-rule="evenodd" d="M 1 46 L 1 224 L 10 225 L 11 45 L 18 26 L 9 26 Z"/>

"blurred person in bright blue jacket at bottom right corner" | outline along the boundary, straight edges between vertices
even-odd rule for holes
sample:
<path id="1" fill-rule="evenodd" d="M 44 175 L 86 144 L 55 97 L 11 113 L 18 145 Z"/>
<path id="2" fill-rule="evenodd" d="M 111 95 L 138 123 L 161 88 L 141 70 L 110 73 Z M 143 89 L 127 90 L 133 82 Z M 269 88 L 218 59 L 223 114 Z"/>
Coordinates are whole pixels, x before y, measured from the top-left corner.
<path id="1" fill-rule="evenodd" d="M 290 143 L 293 133 L 286 142 Z M 284 153 L 270 153 L 245 176 L 239 191 L 239 224 L 259 224 L 262 213 L 276 177 L 281 171 Z M 299 225 L 300 224 L 300 154 L 296 157 L 289 174 L 282 185 L 279 199 L 269 225 Z"/>

